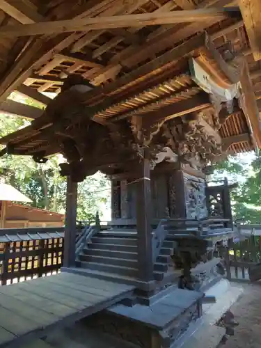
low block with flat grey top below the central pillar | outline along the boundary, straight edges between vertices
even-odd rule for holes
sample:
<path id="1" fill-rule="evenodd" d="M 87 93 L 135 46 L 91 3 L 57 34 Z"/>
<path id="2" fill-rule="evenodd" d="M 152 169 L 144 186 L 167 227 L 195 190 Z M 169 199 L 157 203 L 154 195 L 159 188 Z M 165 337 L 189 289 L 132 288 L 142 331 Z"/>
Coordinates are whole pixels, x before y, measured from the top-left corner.
<path id="1" fill-rule="evenodd" d="M 99 329 L 143 348 L 169 348 L 202 314 L 204 294 L 173 287 L 151 306 L 116 305 L 86 319 Z"/>

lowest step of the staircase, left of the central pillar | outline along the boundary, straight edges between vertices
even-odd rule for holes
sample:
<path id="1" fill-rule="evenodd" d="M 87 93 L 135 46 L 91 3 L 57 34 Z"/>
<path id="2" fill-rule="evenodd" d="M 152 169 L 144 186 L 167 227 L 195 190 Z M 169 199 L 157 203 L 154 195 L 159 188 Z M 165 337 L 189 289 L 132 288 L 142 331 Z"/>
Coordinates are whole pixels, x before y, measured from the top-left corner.
<path id="1" fill-rule="evenodd" d="M 86 269 L 92 269 L 93 271 L 109 272 L 114 274 L 120 274 L 122 276 L 136 277 L 138 270 L 130 267 L 115 266 L 113 264 L 104 264 L 97 262 L 81 261 L 81 267 Z"/>

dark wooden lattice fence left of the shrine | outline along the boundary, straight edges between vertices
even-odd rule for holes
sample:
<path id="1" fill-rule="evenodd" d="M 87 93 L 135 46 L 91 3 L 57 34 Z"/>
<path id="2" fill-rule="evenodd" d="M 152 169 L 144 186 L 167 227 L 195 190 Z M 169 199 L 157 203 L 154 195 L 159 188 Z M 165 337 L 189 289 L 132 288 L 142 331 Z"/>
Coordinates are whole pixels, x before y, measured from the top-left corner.
<path id="1" fill-rule="evenodd" d="M 54 274 L 63 263 L 63 228 L 0 230 L 0 283 Z"/>

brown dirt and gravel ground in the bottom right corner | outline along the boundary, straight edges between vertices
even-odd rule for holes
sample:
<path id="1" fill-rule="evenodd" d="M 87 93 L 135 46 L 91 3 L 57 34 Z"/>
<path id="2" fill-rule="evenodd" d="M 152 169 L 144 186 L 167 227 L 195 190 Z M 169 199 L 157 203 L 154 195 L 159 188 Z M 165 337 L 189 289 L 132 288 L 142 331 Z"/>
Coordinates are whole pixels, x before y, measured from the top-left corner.
<path id="1" fill-rule="evenodd" d="M 242 285 L 244 294 L 232 306 L 232 313 L 239 326 L 235 335 L 230 337 L 224 348 L 261 347 L 261 283 Z"/>

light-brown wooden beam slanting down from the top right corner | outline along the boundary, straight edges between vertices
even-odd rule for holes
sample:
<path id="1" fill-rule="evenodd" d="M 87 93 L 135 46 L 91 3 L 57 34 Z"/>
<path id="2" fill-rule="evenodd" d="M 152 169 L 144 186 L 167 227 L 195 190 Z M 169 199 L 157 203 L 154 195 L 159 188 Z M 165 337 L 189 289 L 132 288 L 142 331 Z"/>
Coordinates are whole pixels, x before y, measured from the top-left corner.
<path id="1" fill-rule="evenodd" d="M 255 61 L 261 59 L 261 2 L 238 0 Z"/>

